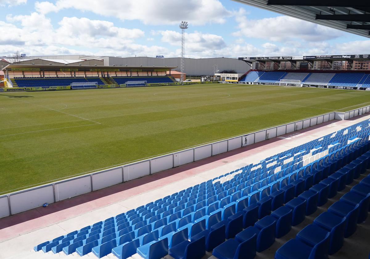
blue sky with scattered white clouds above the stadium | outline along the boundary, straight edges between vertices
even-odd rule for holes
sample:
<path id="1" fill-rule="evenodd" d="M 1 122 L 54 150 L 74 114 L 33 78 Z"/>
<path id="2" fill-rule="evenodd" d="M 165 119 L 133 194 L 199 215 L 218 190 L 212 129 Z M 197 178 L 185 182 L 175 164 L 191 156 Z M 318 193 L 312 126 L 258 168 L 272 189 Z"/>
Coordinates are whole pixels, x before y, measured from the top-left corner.
<path id="1" fill-rule="evenodd" d="M 0 0 L 0 56 L 369 54 L 370 40 L 231 0 Z"/>

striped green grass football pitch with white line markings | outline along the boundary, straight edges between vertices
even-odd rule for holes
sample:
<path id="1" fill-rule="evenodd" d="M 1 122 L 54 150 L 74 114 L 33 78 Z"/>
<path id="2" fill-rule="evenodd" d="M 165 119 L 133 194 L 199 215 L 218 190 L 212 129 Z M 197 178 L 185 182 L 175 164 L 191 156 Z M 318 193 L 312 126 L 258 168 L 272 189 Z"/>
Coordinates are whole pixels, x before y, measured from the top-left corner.
<path id="1" fill-rule="evenodd" d="M 330 111 L 370 92 L 209 84 L 0 94 L 0 194 Z"/>

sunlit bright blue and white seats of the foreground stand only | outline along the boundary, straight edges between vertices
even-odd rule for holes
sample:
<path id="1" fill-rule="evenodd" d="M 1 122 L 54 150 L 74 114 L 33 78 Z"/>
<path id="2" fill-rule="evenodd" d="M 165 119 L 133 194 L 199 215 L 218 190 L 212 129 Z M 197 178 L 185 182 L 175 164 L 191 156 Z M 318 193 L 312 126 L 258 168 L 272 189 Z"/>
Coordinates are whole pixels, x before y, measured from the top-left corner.
<path id="1" fill-rule="evenodd" d="M 211 225 L 212 222 L 229 222 L 231 216 L 254 204 L 259 204 L 260 216 L 265 215 L 269 211 L 264 203 L 266 198 L 272 196 L 271 206 L 276 208 L 282 197 L 286 199 L 292 194 L 295 188 L 290 185 L 299 178 L 304 178 L 304 186 L 309 186 L 311 182 L 317 183 L 321 178 L 319 174 L 311 176 L 312 170 L 338 159 L 349 152 L 351 147 L 363 144 L 368 135 L 369 120 L 366 120 L 266 158 L 258 164 L 246 165 L 137 209 L 41 243 L 34 249 L 44 252 L 55 250 L 55 253 L 63 250 L 66 254 L 77 252 L 79 255 L 92 251 L 99 258 L 111 252 L 122 255 L 122 258 L 131 256 L 132 254 L 128 255 L 131 252 L 138 252 L 146 258 L 155 258 L 151 246 L 171 248 L 172 236 L 185 228 L 188 229 L 188 239 L 191 240 L 198 232 L 196 229 L 202 229 L 203 223 L 199 222 L 203 222 L 203 219 L 206 226 L 210 226 L 209 222 Z M 302 188 L 302 184 L 299 186 Z M 239 216 L 236 215 L 235 221 L 232 218 L 230 223 L 225 224 L 226 238 L 232 237 L 238 230 L 240 232 L 240 228 L 235 228 L 240 223 Z M 243 217 L 243 224 L 248 219 L 249 217 Z M 209 229 L 210 232 L 213 230 L 215 229 Z M 222 232 L 219 229 L 218 231 Z M 186 236 L 185 231 L 181 233 L 181 236 Z M 212 235 L 216 234 L 212 232 Z M 205 246 L 214 247 L 217 242 L 212 240 L 206 239 Z M 198 245 L 200 243 L 202 242 L 199 241 Z M 191 247 L 199 247 L 198 245 L 192 244 Z"/>

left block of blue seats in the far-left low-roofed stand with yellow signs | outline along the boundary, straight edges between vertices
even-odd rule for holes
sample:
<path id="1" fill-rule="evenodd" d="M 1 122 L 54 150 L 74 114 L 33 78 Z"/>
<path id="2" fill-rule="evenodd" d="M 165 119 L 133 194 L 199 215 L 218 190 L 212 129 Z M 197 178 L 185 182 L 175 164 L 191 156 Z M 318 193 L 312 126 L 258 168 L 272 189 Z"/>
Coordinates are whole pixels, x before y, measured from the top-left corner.
<path id="1" fill-rule="evenodd" d="M 99 77 L 83 78 L 14 78 L 18 87 L 47 87 L 47 86 L 65 86 L 71 83 L 97 82 L 98 85 L 104 84 Z"/>

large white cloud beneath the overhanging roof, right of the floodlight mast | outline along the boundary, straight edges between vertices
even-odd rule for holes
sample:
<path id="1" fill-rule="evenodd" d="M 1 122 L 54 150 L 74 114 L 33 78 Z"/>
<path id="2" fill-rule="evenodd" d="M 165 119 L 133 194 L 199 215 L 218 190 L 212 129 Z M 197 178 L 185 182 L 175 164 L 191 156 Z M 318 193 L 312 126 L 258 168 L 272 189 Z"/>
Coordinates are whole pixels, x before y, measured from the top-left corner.
<path id="1" fill-rule="evenodd" d="M 277 16 L 259 20 L 249 20 L 245 16 L 236 16 L 239 31 L 233 36 L 262 38 L 270 41 L 305 40 L 310 42 L 329 40 L 343 35 L 339 30 L 295 19 L 289 16 Z"/>

